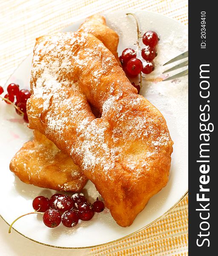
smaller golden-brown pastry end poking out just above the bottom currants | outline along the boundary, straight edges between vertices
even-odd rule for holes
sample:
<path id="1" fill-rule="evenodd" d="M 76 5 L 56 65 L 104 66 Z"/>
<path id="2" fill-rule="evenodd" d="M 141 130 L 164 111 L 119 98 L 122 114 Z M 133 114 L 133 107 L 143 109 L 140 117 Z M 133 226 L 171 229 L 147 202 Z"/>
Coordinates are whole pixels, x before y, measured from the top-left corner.
<path id="1" fill-rule="evenodd" d="M 25 143 L 11 160 L 11 171 L 27 184 L 58 191 L 83 189 L 87 178 L 72 158 L 39 131 L 33 133 L 34 139 Z"/>

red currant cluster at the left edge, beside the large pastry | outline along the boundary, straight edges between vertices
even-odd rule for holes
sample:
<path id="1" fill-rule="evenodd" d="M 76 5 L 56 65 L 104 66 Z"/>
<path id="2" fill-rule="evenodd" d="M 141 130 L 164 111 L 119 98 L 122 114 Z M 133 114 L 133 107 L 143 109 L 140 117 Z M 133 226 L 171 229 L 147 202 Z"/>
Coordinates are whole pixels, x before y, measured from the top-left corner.
<path id="1" fill-rule="evenodd" d="M 24 121 L 28 123 L 29 121 L 26 114 L 26 102 L 31 96 L 30 91 L 25 89 L 20 90 L 19 85 L 14 83 L 8 85 L 7 91 L 8 93 L 6 93 L 6 95 L 1 98 L 7 104 L 13 105 L 17 114 L 20 116 L 23 116 Z M 0 94 L 2 94 L 3 92 L 4 92 L 4 89 L 3 87 L 0 86 Z M 16 97 L 16 101 L 15 101 L 15 97 Z"/>

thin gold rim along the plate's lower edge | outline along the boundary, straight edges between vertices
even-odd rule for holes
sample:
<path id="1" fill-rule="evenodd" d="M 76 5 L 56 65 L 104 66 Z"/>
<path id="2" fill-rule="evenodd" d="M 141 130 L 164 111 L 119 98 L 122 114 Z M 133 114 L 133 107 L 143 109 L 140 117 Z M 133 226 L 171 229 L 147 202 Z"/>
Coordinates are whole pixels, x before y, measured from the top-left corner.
<path id="1" fill-rule="evenodd" d="M 14 227 L 12 227 L 12 229 L 14 231 L 16 231 L 18 234 L 20 234 L 21 236 L 37 243 L 37 244 L 42 244 L 42 245 L 45 245 L 45 246 L 48 246 L 48 247 L 53 247 L 53 248 L 59 248 L 59 249 L 89 249 L 89 248 L 94 248 L 94 247 L 100 247 L 100 246 L 104 246 L 104 245 L 109 245 L 109 244 L 113 244 L 113 243 L 116 243 L 118 241 L 122 241 L 126 238 L 129 238 L 130 236 L 133 236 L 143 230 L 145 230 L 146 228 L 150 227 L 152 224 L 155 224 L 157 221 L 159 221 L 161 218 L 163 218 L 166 214 L 168 214 L 173 208 L 175 208 L 184 198 L 185 196 L 188 194 L 188 190 L 185 192 L 185 194 L 171 207 L 169 208 L 163 215 L 161 215 L 160 217 L 156 218 L 154 221 L 152 221 L 151 223 L 149 223 L 148 225 L 146 225 L 145 227 L 142 227 L 140 230 L 137 230 L 127 236 L 123 236 L 117 240 L 113 240 L 113 241 L 110 241 L 110 242 L 107 242 L 107 243 L 104 243 L 104 244 L 97 244 L 97 245 L 92 245 L 92 246 L 86 246 L 86 247 L 61 247 L 61 246 L 55 246 L 55 245 L 50 245 L 50 244 L 44 244 L 44 243 L 41 243 L 39 241 L 36 241 L 32 238 L 29 238 L 28 236 L 25 236 L 23 235 L 22 233 L 20 233 L 18 230 L 16 230 Z M 2 215 L 0 215 L 0 217 L 3 219 L 3 221 L 5 221 L 9 226 L 10 224 L 2 217 Z"/>

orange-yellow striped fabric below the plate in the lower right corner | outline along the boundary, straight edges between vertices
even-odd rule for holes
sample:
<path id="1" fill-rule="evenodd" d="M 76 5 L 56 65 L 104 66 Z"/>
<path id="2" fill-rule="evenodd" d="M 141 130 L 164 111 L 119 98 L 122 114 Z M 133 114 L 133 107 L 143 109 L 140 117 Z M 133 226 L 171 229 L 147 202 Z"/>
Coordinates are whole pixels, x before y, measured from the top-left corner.
<path id="1" fill-rule="evenodd" d="M 95 247 L 87 256 L 188 255 L 188 196 L 151 227 L 123 241 Z"/>

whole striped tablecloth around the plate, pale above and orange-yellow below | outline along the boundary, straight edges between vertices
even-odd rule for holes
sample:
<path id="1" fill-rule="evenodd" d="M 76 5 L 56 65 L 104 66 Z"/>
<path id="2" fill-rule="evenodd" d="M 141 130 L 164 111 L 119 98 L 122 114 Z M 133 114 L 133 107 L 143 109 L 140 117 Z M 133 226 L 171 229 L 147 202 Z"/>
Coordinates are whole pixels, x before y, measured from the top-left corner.
<path id="1" fill-rule="evenodd" d="M 32 51 L 35 38 L 38 36 L 57 32 L 72 24 L 74 20 L 97 12 L 124 8 L 158 12 L 185 25 L 188 24 L 187 0 L 0 0 L 0 84 L 6 83 L 17 65 Z M 33 243 L 26 240 L 25 242 Z M 188 197 L 186 196 L 168 215 L 146 230 L 115 244 L 92 248 L 83 253 L 81 251 L 78 255 L 178 256 L 188 254 L 187 244 Z M 13 247 L 12 241 L 10 246 Z M 27 244 L 28 246 L 30 245 Z M 40 246 L 40 251 L 32 255 L 40 256 L 45 253 L 49 256 L 56 255 L 54 250 L 60 249 L 49 250 Z M 23 254 L 20 251 L 17 249 L 17 254 L 13 255 L 28 255 L 25 254 L 25 250 Z M 64 250 L 60 253 L 66 254 Z M 6 254 L 3 250 L 1 255 L 12 254 Z"/>

